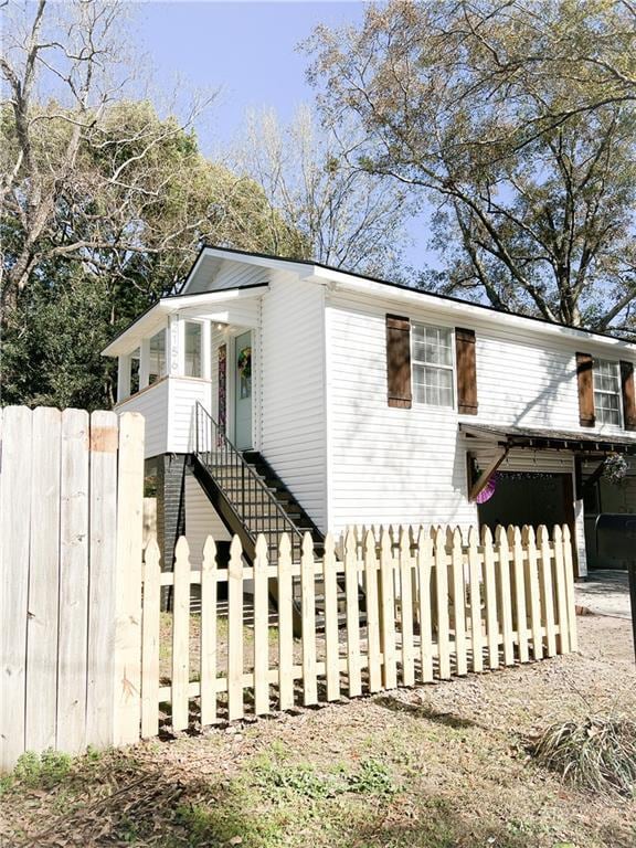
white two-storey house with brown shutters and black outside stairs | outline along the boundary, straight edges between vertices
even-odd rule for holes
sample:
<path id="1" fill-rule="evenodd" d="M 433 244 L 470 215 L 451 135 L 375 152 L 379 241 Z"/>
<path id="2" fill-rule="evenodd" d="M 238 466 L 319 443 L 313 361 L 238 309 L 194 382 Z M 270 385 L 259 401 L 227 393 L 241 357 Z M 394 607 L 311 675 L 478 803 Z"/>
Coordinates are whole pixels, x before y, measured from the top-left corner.
<path id="1" fill-rule="evenodd" d="M 250 550 L 258 530 L 569 522 L 584 574 L 584 494 L 592 515 L 600 464 L 636 453 L 636 346 L 310 262 L 205 247 L 104 352 L 117 409 L 146 417 L 167 556 L 183 531 Z"/>

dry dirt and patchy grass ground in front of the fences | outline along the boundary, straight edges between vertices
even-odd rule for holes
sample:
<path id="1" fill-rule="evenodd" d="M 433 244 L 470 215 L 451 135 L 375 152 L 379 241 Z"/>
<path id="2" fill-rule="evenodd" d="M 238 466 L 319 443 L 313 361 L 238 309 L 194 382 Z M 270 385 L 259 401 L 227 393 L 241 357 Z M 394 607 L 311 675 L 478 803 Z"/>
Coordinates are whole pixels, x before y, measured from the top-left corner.
<path id="1" fill-rule="evenodd" d="M 581 653 L 67 761 L 0 783 L 0 846 L 634 848 L 636 801 L 563 786 L 529 741 L 636 714 L 630 624 Z"/>

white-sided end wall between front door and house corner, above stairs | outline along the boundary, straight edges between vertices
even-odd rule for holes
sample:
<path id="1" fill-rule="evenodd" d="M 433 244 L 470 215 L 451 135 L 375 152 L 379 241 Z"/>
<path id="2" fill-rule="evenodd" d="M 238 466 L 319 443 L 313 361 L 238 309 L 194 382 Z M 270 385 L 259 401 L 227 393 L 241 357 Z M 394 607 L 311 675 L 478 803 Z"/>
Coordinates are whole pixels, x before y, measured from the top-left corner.
<path id="1" fill-rule="evenodd" d="M 324 292 L 275 272 L 263 296 L 261 452 L 318 527 L 326 526 Z M 256 399 L 255 399 L 255 402 Z"/>

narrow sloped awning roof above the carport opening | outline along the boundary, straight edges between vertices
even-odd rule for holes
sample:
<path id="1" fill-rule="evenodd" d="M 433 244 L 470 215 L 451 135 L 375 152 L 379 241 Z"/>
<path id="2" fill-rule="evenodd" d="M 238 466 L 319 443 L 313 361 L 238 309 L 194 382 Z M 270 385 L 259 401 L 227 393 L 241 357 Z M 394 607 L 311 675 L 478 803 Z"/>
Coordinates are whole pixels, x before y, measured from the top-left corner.
<path id="1" fill-rule="evenodd" d="M 459 424 L 468 439 L 479 438 L 499 447 L 530 447 L 574 453 L 603 454 L 617 452 L 636 455 L 636 433 L 576 433 L 529 427 L 497 427 L 488 424 Z"/>

